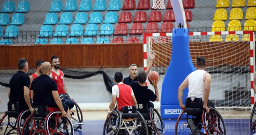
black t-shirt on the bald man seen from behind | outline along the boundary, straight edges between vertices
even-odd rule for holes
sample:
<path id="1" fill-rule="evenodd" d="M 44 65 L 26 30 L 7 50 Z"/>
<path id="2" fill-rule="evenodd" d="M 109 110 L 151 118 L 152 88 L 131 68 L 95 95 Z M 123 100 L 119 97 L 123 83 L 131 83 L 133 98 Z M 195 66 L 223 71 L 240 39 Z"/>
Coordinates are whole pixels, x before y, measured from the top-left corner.
<path id="1" fill-rule="evenodd" d="M 31 90 L 33 90 L 33 106 L 56 106 L 52 91 L 58 91 L 56 82 L 47 76 L 42 74 L 32 81 Z"/>

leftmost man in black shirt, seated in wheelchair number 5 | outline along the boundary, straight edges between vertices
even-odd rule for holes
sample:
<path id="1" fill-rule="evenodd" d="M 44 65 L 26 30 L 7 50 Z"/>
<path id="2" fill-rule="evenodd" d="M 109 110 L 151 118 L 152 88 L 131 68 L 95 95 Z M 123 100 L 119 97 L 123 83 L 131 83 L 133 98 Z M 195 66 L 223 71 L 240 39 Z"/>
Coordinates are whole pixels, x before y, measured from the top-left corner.
<path id="1" fill-rule="evenodd" d="M 9 102 L 19 102 L 19 109 L 28 110 L 31 114 L 34 110 L 30 103 L 29 98 L 29 85 L 30 79 L 26 73 L 28 73 L 28 62 L 26 59 L 21 58 L 18 61 L 19 71 L 10 79 L 10 87 L 8 90 Z"/>

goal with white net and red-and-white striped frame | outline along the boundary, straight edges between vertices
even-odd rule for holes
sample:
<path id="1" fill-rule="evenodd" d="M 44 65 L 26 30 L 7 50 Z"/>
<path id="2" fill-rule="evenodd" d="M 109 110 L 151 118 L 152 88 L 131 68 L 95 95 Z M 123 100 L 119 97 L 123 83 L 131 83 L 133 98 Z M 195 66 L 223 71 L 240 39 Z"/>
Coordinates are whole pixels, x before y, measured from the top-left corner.
<path id="1" fill-rule="evenodd" d="M 212 77 L 209 100 L 216 107 L 250 109 L 254 105 L 254 38 L 252 31 L 189 32 L 192 62 L 195 66 L 197 57 L 205 57 Z M 152 50 L 157 53 L 152 71 L 160 74 L 161 84 L 171 60 L 172 33 L 145 34 L 144 54 Z"/>

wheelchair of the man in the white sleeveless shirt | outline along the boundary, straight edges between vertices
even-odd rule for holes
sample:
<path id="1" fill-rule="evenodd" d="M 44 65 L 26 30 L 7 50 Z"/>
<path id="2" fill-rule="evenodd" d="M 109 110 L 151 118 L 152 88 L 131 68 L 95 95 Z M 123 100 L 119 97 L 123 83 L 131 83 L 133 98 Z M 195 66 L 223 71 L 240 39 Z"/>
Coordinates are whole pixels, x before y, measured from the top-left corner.
<path id="1" fill-rule="evenodd" d="M 175 124 L 175 135 L 226 135 L 220 113 L 212 107 L 207 113 L 202 105 L 202 98 L 186 98 L 185 110 Z"/>

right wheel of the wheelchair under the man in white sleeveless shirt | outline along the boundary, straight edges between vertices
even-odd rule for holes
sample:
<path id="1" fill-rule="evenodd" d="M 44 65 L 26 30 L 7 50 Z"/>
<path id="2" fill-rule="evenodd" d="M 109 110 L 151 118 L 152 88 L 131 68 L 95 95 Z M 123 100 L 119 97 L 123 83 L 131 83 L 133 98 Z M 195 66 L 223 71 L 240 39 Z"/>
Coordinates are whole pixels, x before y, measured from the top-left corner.
<path id="1" fill-rule="evenodd" d="M 210 108 L 209 113 L 203 111 L 202 123 L 206 135 L 226 135 L 226 127 L 220 113 L 215 108 Z"/>

